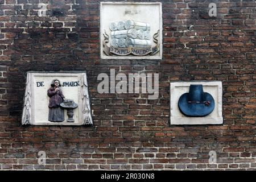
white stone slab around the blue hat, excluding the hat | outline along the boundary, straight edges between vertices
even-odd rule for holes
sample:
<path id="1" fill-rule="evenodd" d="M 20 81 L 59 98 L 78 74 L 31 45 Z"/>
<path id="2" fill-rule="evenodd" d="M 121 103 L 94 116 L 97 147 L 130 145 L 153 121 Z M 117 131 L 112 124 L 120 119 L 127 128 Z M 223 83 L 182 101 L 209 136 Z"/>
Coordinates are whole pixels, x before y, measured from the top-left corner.
<path id="1" fill-rule="evenodd" d="M 214 110 L 205 117 L 188 117 L 181 113 L 178 101 L 182 94 L 189 92 L 191 84 L 203 85 L 203 91 L 214 99 Z M 171 82 L 170 84 L 170 122 L 171 125 L 217 125 L 223 123 L 222 117 L 222 82 L 191 81 Z"/>

